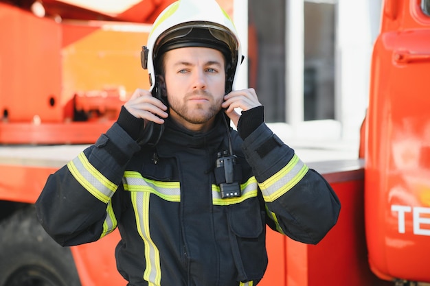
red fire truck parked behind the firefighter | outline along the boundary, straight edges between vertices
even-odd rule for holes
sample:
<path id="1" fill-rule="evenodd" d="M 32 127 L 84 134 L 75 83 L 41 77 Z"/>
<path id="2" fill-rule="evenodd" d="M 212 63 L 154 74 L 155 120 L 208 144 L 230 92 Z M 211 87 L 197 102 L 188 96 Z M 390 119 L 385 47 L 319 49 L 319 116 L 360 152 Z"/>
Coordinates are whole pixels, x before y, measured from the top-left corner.
<path id="1" fill-rule="evenodd" d="M 72 3 L 0 0 L 0 286 L 126 284 L 116 231 L 61 248 L 33 204 L 47 176 L 145 88 L 139 48 L 172 0 L 122 12 Z M 430 0 L 385 0 L 382 15 L 357 160 L 308 164 L 339 195 L 339 222 L 317 246 L 268 230 L 260 285 L 430 283 Z"/>

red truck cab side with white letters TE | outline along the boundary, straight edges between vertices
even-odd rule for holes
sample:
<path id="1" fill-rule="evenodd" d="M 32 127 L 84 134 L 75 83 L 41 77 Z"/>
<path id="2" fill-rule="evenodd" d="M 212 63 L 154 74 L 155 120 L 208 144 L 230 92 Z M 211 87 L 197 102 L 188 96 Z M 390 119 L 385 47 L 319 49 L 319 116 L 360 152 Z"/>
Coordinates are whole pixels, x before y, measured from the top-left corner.
<path id="1" fill-rule="evenodd" d="M 386 0 L 374 45 L 365 163 L 369 262 L 430 282 L 430 0 Z"/>

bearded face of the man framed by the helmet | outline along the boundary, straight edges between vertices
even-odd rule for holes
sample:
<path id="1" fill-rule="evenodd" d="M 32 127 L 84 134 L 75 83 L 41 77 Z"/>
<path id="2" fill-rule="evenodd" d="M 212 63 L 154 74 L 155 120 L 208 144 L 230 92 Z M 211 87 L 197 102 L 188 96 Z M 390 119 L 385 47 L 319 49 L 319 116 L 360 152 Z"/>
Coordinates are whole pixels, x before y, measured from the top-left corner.
<path id="1" fill-rule="evenodd" d="M 205 47 L 172 49 L 164 68 L 170 117 L 188 130 L 207 131 L 225 95 L 223 54 Z"/>

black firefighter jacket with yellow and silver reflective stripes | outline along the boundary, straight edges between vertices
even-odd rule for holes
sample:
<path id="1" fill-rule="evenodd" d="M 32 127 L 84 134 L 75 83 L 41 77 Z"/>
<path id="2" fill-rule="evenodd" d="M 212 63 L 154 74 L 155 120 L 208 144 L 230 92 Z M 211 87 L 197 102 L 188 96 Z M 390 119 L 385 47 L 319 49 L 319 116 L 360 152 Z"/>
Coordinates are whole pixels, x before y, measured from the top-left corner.
<path id="1" fill-rule="evenodd" d="M 231 132 L 238 198 L 220 198 L 218 120 L 206 134 L 166 123 L 155 148 L 140 147 L 117 123 L 49 176 L 38 218 L 62 246 L 119 228 L 117 269 L 128 285 L 257 285 L 267 267 L 266 224 L 304 243 L 335 225 L 340 204 L 329 184 L 262 123 L 245 141 Z M 221 177 L 221 178 L 219 178 Z"/>

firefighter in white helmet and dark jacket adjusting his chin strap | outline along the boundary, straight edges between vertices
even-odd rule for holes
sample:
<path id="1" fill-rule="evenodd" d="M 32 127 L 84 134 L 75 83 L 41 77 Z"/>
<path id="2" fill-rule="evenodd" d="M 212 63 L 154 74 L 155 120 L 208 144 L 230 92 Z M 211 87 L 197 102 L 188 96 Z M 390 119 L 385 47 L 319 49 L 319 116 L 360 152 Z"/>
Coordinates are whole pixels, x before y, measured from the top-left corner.
<path id="1" fill-rule="evenodd" d="M 264 123 L 256 91 L 234 89 L 241 62 L 215 0 L 166 8 L 142 51 L 150 91 L 47 179 L 36 202 L 47 233 L 74 246 L 119 228 L 117 270 L 133 286 L 257 285 L 266 225 L 321 241 L 337 195 Z"/>

